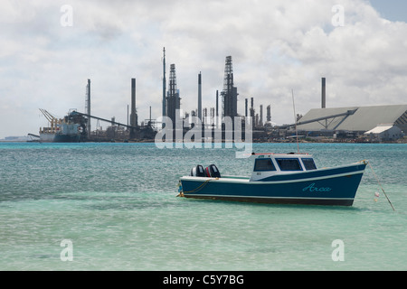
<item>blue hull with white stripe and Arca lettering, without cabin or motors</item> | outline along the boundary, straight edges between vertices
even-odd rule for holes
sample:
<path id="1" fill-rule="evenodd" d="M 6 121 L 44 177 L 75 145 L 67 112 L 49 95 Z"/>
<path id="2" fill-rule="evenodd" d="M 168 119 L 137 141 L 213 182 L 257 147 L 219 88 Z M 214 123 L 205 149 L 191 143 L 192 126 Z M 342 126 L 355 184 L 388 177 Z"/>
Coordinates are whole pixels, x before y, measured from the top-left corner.
<path id="1" fill-rule="evenodd" d="M 263 203 L 352 206 L 365 163 L 276 175 L 260 182 L 243 178 L 181 178 L 186 198 Z"/>

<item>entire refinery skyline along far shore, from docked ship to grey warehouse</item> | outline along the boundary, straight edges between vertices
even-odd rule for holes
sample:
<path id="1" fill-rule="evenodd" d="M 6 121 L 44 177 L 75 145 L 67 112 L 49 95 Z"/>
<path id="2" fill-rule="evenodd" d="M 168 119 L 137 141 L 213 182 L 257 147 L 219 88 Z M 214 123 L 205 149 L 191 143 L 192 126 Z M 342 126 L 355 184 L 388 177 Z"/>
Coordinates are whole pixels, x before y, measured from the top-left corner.
<path id="1" fill-rule="evenodd" d="M 118 123 L 115 117 L 110 119 L 96 117 L 91 112 L 91 82 L 88 79 L 85 96 L 85 112 L 71 109 L 66 117 L 53 117 L 45 109 L 40 109 L 48 121 L 41 127 L 39 135 L 29 134 L 33 141 L 39 142 L 151 142 L 156 133 L 166 124 L 165 117 L 172 121 L 183 122 L 182 133 L 192 129 L 189 117 L 198 117 L 205 130 L 221 131 L 224 140 L 224 117 L 241 117 L 244 127 L 251 126 L 253 142 L 290 142 L 295 141 L 359 141 L 383 142 L 402 139 L 407 131 L 407 105 L 377 107 L 333 107 L 327 108 L 327 79 L 321 79 L 321 107 L 311 109 L 305 116 L 297 115 L 296 122 L 289 125 L 273 126 L 271 123 L 271 105 L 258 104 L 255 98 L 244 99 L 244 116 L 238 114 L 238 89 L 234 84 L 232 56 L 226 56 L 223 88 L 216 90 L 216 100 L 212 107 L 202 107 L 203 77 L 197 78 L 197 108 L 179 116 L 181 107 L 180 89 L 177 88 L 175 63 L 169 66 L 169 79 L 166 81 L 166 48 L 163 49 L 163 96 L 162 116 L 153 118 L 151 107 L 149 118 L 138 122 L 136 103 L 136 79 L 130 79 L 131 106 L 128 107 L 128 124 Z M 219 99 L 219 96 L 221 99 Z M 264 117 L 264 107 L 265 117 Z M 221 107 L 221 110 L 220 110 Z M 130 108 L 130 110 L 129 110 Z M 185 111 L 185 109 L 183 109 Z M 96 120 L 91 127 L 90 120 Z M 175 141 L 180 141 L 176 139 Z M 196 141 L 196 140 L 195 140 Z M 201 140 L 199 140 L 201 141 Z"/>

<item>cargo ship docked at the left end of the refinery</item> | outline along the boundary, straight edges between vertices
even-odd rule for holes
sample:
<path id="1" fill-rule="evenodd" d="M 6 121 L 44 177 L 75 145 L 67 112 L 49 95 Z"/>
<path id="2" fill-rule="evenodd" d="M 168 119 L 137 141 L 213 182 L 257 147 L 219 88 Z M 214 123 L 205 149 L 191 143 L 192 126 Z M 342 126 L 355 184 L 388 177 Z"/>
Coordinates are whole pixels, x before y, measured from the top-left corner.
<path id="1" fill-rule="evenodd" d="M 87 118 L 71 109 L 63 118 L 53 117 L 45 109 L 40 108 L 47 118 L 49 126 L 40 127 L 40 142 L 43 143 L 80 143 L 86 141 Z"/>

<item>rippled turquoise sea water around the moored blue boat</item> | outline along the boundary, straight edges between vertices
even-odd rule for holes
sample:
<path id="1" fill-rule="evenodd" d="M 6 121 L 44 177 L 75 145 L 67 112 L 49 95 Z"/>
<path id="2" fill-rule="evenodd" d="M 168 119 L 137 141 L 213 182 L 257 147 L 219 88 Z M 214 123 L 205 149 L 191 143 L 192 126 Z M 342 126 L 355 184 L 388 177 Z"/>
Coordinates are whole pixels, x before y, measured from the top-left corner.
<path id="1" fill-rule="evenodd" d="M 407 145 L 300 150 L 319 167 L 368 159 L 396 211 L 381 191 L 374 201 L 370 169 L 349 208 L 187 200 L 176 198 L 178 178 L 197 163 L 246 175 L 251 162 L 226 148 L 0 144 L 0 270 L 406 270 Z"/>

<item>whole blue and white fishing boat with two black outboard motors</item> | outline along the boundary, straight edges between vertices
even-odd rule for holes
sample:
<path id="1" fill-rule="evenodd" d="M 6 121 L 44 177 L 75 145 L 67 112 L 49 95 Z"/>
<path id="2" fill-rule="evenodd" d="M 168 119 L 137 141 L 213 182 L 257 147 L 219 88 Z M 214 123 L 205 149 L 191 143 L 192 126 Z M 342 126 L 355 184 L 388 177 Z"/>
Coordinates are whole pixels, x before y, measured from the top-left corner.
<path id="1" fill-rule="evenodd" d="M 221 175 L 196 165 L 179 182 L 179 196 L 262 203 L 352 206 L 367 161 L 317 168 L 311 154 L 252 154 L 251 176 Z"/>

